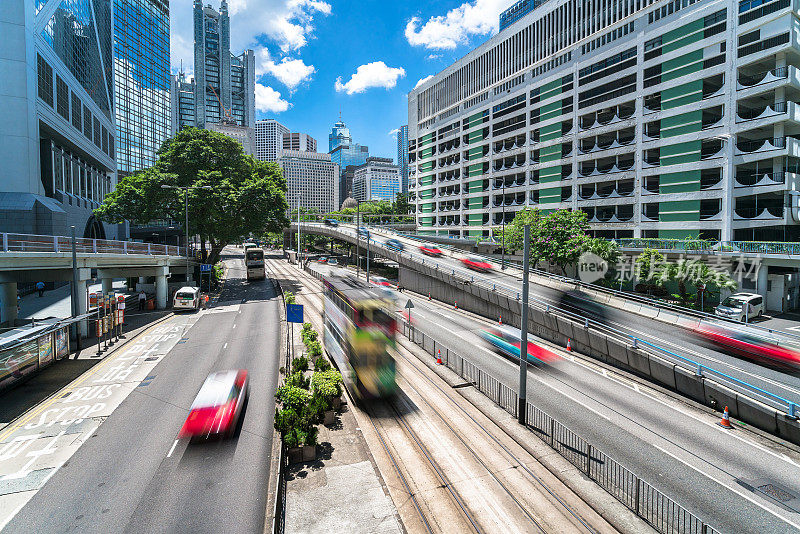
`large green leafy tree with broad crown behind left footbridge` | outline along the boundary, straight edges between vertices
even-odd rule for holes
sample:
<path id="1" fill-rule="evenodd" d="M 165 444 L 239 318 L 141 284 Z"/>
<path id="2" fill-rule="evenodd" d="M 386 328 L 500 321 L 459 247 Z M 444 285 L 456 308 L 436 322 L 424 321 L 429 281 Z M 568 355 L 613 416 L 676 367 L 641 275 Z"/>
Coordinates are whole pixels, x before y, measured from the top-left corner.
<path id="1" fill-rule="evenodd" d="M 184 128 L 165 141 L 156 164 L 123 178 L 95 214 L 109 223 L 183 221 L 183 191 L 162 185 L 211 187 L 189 190 L 189 233 L 200 235 L 207 263 L 216 263 L 229 243 L 278 232 L 288 223 L 280 168 L 244 154 L 240 143 L 221 133 L 199 128 Z"/>

